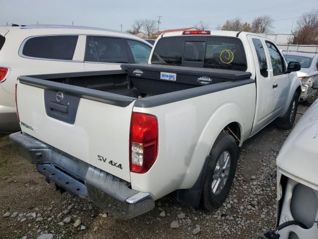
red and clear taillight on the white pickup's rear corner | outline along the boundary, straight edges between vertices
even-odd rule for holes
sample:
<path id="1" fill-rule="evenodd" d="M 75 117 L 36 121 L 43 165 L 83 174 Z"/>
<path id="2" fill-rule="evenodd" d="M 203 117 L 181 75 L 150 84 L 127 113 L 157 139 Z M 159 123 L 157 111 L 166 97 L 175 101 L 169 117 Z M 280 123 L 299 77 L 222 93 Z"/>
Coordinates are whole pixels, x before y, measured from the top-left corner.
<path id="1" fill-rule="evenodd" d="M 130 125 L 130 171 L 145 173 L 158 155 L 157 117 L 133 112 Z"/>

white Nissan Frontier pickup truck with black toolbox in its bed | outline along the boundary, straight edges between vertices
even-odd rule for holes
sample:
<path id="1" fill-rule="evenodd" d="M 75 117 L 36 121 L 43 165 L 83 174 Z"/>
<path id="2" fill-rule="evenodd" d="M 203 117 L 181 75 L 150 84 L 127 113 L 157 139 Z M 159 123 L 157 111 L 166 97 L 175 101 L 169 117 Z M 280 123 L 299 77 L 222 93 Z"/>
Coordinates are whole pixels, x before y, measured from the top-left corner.
<path id="1" fill-rule="evenodd" d="M 149 64 L 113 72 L 21 76 L 20 152 L 57 189 L 130 219 L 175 193 L 219 207 L 239 147 L 273 120 L 291 128 L 300 64 L 247 32 L 160 35 Z"/>

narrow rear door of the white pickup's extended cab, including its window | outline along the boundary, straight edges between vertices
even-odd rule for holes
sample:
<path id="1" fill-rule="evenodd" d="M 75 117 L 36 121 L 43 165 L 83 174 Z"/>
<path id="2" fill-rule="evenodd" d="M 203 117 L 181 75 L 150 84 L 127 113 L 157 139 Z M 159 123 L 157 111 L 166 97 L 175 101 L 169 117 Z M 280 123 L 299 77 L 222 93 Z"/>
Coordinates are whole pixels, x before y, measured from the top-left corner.
<path id="1" fill-rule="evenodd" d="M 255 62 L 256 76 L 256 110 L 251 135 L 263 128 L 270 120 L 269 111 L 272 97 L 272 79 L 268 72 L 268 56 L 265 52 L 265 42 L 257 36 L 248 36 Z"/>

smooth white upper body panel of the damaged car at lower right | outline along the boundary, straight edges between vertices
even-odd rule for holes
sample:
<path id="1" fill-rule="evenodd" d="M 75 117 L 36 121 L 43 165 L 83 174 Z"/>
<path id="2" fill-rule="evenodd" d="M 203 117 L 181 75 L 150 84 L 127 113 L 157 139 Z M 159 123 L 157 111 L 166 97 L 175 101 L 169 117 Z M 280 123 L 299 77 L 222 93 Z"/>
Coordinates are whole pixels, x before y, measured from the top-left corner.
<path id="1" fill-rule="evenodd" d="M 318 100 L 289 134 L 276 164 L 283 174 L 318 187 Z"/>

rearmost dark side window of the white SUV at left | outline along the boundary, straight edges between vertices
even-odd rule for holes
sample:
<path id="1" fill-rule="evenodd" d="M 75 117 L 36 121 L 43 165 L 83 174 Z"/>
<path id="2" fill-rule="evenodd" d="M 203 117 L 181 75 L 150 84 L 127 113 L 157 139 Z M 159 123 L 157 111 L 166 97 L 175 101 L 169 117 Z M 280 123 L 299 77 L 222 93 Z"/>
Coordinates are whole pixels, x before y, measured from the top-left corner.
<path id="1" fill-rule="evenodd" d="M 75 52 L 78 36 L 37 36 L 26 40 L 22 54 L 24 56 L 72 60 Z"/>

